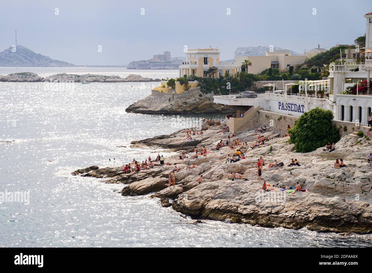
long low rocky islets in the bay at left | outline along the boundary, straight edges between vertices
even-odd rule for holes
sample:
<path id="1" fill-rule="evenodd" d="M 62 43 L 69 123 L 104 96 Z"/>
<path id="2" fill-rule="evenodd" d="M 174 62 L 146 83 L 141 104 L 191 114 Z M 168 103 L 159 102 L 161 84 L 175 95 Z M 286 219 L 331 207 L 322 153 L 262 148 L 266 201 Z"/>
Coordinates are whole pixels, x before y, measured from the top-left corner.
<path id="1" fill-rule="evenodd" d="M 12 73 L 8 75 L 0 75 L 0 82 L 62 82 L 62 81 L 73 81 L 73 82 L 159 82 L 160 79 L 144 78 L 141 75 L 130 74 L 126 78 L 121 78 L 116 75 L 98 75 L 98 74 L 54 74 L 47 78 L 40 77 L 36 73 L 32 72 L 20 72 Z"/>

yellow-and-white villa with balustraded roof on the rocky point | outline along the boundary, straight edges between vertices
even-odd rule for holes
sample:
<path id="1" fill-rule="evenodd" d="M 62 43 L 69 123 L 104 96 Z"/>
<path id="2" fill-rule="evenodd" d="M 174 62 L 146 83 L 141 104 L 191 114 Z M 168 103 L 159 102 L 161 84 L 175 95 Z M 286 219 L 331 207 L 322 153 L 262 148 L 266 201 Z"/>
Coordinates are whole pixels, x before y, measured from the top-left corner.
<path id="1" fill-rule="evenodd" d="M 220 62 L 219 48 L 197 48 L 187 49 L 186 61 L 179 66 L 180 77 L 183 75 L 195 75 L 196 77 L 207 77 L 207 71 L 212 66 L 218 68 L 215 77 L 235 75 L 241 71 L 241 64 L 237 62 Z"/>

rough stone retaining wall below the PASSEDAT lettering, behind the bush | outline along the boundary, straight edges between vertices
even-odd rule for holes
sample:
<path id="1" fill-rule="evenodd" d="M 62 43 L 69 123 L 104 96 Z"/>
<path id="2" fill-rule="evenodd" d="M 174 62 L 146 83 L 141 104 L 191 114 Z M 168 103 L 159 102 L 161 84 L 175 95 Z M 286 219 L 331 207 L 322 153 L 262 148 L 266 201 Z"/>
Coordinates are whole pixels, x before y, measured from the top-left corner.
<path id="1" fill-rule="evenodd" d="M 281 117 L 281 118 L 280 118 Z M 285 115 L 285 114 L 277 114 L 270 111 L 259 110 L 256 113 L 256 116 L 248 121 L 248 128 L 258 128 L 263 127 L 266 125 L 267 128 L 283 135 L 287 133 L 287 126 L 295 125 L 295 121 L 298 120 L 299 117 Z M 278 120 L 279 119 L 279 120 Z M 337 127 L 341 126 L 340 135 L 341 137 L 352 133 L 353 131 L 358 131 L 359 126 L 356 126 L 355 122 L 349 121 L 339 121 L 333 120 L 332 123 L 336 124 Z M 344 126 L 346 126 L 346 131 L 343 130 Z"/>

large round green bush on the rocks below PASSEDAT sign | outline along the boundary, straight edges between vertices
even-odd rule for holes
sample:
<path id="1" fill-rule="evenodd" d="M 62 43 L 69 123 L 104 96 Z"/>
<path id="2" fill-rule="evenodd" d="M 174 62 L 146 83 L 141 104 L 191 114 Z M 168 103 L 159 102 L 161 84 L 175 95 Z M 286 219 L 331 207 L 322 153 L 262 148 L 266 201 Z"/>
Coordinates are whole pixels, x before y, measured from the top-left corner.
<path id="1" fill-rule="evenodd" d="M 289 142 L 299 153 L 311 152 L 329 142 L 340 140 L 340 131 L 332 125 L 333 113 L 320 108 L 312 109 L 299 117 L 289 133 Z"/>

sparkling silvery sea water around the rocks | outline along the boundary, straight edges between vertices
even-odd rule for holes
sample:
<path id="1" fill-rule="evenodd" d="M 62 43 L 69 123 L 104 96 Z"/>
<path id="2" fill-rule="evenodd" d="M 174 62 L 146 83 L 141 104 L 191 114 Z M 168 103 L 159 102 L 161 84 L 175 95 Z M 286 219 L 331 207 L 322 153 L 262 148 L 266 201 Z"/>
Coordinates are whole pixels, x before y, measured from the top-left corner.
<path id="1" fill-rule="evenodd" d="M 177 70 L 0 68 L 0 74 L 26 71 L 42 77 L 61 72 L 178 75 Z M 161 207 L 157 198 L 121 196 L 117 191 L 122 184 L 72 176 L 72 171 L 87 166 L 120 166 L 157 153 L 169 156 L 161 150 L 129 147 L 132 140 L 179 129 L 171 122 L 174 116 L 125 112 L 158 84 L 76 83 L 73 90 L 48 90 L 44 83 L 0 82 L 0 192 L 29 192 L 28 205 L 0 203 L 1 247 L 372 246 L 371 235 L 340 236 L 209 220 L 196 223 Z"/>

